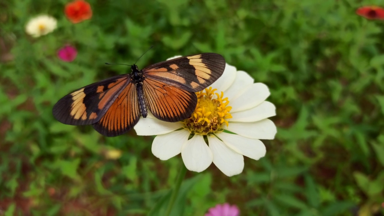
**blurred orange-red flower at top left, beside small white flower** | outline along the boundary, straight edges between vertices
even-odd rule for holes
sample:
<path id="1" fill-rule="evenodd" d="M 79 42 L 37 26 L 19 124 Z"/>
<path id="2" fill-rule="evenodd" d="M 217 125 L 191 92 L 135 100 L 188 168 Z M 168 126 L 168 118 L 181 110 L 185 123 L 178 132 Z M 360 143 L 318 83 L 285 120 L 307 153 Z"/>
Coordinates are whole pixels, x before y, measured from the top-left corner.
<path id="1" fill-rule="evenodd" d="M 92 17 L 91 5 L 83 0 L 75 0 L 65 5 L 65 15 L 72 23 L 79 23 Z"/>

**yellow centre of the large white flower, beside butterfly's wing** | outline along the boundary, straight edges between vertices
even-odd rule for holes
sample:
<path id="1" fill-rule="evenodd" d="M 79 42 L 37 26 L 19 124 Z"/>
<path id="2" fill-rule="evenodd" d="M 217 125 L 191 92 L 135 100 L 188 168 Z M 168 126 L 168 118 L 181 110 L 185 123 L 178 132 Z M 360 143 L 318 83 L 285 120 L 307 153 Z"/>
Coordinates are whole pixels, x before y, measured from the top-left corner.
<path id="1" fill-rule="evenodd" d="M 223 123 L 228 126 L 228 118 L 232 118 L 229 113 L 232 107 L 228 106 L 228 98 L 223 98 L 223 92 L 218 94 L 216 90 L 209 87 L 196 92 L 197 105 L 192 116 L 184 120 L 185 129 L 193 134 L 207 135 L 223 131 Z"/>

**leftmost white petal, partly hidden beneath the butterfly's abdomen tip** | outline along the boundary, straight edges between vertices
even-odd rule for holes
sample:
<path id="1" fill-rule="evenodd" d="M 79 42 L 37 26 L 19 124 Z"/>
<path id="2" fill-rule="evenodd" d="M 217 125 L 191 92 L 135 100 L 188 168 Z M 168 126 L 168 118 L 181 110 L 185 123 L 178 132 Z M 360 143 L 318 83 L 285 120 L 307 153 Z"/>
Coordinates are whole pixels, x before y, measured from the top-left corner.
<path id="1" fill-rule="evenodd" d="M 139 122 L 134 126 L 134 129 L 139 136 L 152 136 L 169 133 L 183 126 L 181 121 L 167 122 L 158 120 L 157 118 L 143 118 L 141 116 Z"/>

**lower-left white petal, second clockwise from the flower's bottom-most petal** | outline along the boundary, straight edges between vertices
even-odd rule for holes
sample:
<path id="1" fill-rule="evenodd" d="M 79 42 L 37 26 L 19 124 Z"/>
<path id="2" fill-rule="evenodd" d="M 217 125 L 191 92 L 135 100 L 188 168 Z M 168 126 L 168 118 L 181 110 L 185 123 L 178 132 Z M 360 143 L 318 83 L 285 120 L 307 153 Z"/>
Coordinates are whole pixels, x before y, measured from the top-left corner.
<path id="1" fill-rule="evenodd" d="M 152 153 L 160 160 L 168 160 L 181 153 L 181 147 L 188 140 L 188 130 L 172 131 L 157 135 L 152 143 Z"/>

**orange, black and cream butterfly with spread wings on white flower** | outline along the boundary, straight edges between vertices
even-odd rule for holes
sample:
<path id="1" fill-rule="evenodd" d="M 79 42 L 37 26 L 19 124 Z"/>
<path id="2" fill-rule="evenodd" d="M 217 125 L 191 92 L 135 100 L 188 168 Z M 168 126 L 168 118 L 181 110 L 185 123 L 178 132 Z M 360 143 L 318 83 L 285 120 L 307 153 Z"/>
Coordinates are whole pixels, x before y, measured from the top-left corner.
<path id="1" fill-rule="evenodd" d="M 216 53 L 183 56 L 131 73 L 108 78 L 61 98 L 53 116 L 67 125 L 93 125 L 104 136 L 131 130 L 148 110 L 159 120 L 175 122 L 189 118 L 197 104 L 194 92 L 216 81 L 225 60 Z"/>

